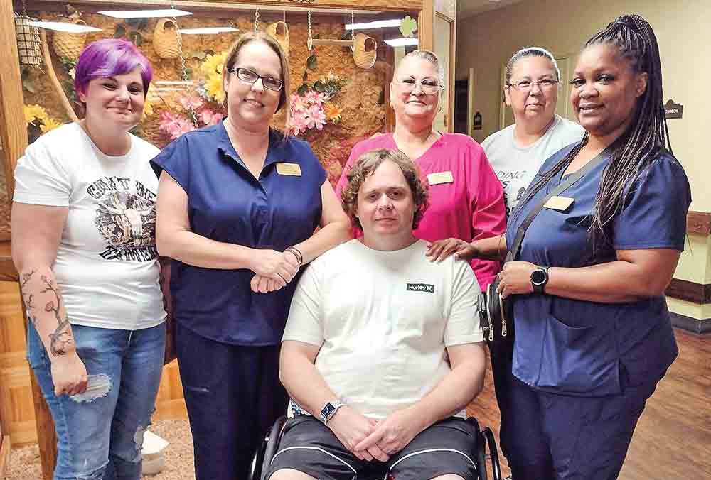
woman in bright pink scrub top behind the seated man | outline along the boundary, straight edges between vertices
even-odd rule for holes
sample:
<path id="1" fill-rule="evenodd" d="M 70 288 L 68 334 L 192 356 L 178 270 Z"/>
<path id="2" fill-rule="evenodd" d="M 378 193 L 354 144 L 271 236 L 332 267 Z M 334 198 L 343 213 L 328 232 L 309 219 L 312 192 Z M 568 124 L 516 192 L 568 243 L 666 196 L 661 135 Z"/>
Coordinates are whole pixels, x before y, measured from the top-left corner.
<path id="1" fill-rule="evenodd" d="M 501 182 L 483 149 L 471 137 L 434 130 L 440 108 L 444 72 L 437 55 L 427 50 L 408 53 L 395 69 L 390 102 L 395 110 L 395 133 L 369 138 L 353 147 L 336 194 L 346 185 L 355 160 L 377 148 L 397 149 L 419 166 L 429 183 L 429 209 L 415 235 L 427 241 L 456 237 L 485 239 L 506 231 L 506 207 Z M 481 289 L 498 273 L 498 261 L 471 261 Z"/>

